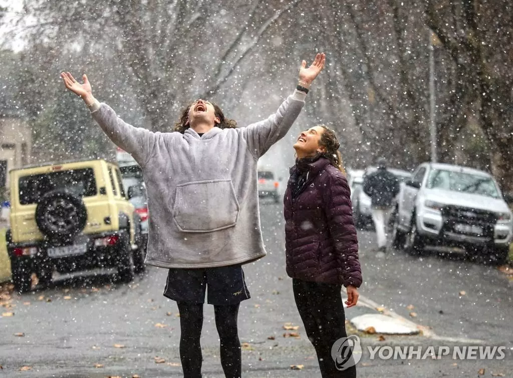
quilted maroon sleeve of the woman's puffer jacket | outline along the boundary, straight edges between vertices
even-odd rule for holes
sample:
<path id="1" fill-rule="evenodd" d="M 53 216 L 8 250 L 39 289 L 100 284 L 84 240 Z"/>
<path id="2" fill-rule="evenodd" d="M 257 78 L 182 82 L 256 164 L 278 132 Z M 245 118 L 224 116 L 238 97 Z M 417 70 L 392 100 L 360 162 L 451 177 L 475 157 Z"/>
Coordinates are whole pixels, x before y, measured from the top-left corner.
<path id="1" fill-rule="evenodd" d="M 358 236 L 352 217 L 350 189 L 346 177 L 340 171 L 325 172 L 323 202 L 333 245 L 342 268 L 345 287 L 362 284 L 362 270 L 358 258 Z"/>

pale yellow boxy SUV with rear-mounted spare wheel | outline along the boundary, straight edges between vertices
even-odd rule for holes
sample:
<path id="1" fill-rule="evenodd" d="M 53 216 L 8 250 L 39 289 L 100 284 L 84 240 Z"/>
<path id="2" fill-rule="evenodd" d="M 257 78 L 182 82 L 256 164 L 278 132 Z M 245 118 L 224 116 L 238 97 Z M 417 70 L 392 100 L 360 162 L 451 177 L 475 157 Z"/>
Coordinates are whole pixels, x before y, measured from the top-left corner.
<path id="1" fill-rule="evenodd" d="M 32 274 L 48 285 L 56 270 L 116 267 L 121 282 L 144 270 L 140 220 L 117 165 L 105 160 L 44 164 L 10 174 L 6 233 L 12 282 L 29 291 Z"/>

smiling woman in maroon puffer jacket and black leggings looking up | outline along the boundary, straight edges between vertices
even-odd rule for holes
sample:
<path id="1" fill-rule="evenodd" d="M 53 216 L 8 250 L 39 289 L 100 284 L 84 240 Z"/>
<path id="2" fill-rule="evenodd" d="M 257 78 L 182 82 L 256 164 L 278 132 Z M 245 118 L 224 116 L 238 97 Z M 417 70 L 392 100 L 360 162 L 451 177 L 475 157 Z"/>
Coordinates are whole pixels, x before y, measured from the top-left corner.
<path id="1" fill-rule="evenodd" d="M 331 351 L 347 337 L 342 285 L 345 303 L 352 307 L 362 284 L 340 144 L 332 130 L 320 125 L 303 131 L 293 147 L 297 160 L 284 197 L 287 274 L 323 378 L 356 377 L 351 353 L 344 353 L 347 343 Z"/>

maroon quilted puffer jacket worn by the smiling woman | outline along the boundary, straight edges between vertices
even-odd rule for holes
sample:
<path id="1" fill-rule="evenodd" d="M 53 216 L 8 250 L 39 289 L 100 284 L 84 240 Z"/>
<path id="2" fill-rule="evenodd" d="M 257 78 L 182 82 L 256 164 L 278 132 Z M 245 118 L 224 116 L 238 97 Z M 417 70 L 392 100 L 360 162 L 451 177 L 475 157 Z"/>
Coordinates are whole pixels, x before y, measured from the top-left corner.
<path id="1" fill-rule="evenodd" d="M 287 274 L 292 278 L 360 287 L 358 237 L 346 177 L 320 157 L 308 164 L 303 190 L 292 199 L 291 181 L 284 197 Z"/>

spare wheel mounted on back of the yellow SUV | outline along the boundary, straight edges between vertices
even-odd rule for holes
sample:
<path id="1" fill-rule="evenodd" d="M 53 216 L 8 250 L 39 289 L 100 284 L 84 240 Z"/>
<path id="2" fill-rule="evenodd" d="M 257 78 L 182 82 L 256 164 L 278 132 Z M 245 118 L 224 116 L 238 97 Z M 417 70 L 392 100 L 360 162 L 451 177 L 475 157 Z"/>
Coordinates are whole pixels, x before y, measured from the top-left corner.
<path id="1" fill-rule="evenodd" d="M 67 190 L 52 190 L 37 204 L 35 221 L 48 237 L 73 237 L 86 226 L 86 206 L 81 197 Z"/>

